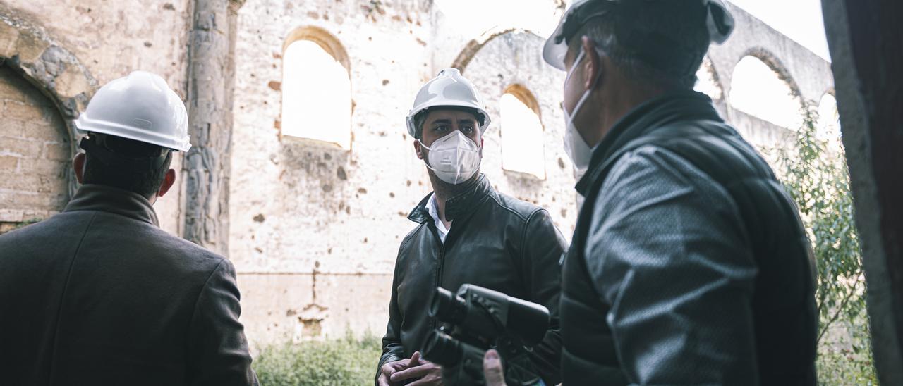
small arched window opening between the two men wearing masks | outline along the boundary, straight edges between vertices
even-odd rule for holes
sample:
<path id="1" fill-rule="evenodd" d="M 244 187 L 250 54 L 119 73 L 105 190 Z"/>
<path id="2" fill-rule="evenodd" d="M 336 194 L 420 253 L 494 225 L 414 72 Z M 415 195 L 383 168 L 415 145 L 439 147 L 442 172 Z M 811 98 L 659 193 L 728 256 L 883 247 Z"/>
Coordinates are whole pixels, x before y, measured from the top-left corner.
<path id="1" fill-rule="evenodd" d="M 539 104 L 526 87 L 508 87 L 501 98 L 502 169 L 545 179 Z"/>

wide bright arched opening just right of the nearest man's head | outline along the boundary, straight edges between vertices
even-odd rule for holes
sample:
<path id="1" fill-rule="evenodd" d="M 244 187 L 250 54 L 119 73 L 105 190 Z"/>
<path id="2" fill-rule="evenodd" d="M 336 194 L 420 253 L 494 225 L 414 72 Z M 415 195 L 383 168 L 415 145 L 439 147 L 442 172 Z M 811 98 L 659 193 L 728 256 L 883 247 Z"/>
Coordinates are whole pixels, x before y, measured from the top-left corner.
<path id="1" fill-rule="evenodd" d="M 731 78 L 731 106 L 787 129 L 802 126 L 798 93 L 764 61 L 743 58 Z"/>

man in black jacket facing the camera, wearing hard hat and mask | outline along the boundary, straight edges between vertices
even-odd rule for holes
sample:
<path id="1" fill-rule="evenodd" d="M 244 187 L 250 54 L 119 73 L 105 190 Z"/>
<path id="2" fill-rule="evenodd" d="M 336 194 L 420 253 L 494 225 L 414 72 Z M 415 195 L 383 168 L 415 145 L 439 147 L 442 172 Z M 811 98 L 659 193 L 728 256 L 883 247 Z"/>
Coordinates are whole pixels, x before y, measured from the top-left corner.
<path id="1" fill-rule="evenodd" d="M 414 99 L 407 132 L 433 192 L 408 216 L 416 225 L 398 251 L 377 385 L 442 384 L 442 368 L 421 356 L 427 334 L 439 326 L 427 310 L 437 286 L 455 291 L 465 283 L 550 310 L 551 326 L 526 367 L 537 381 L 558 383 L 564 241 L 545 209 L 499 193 L 479 172 L 489 121 L 482 98 L 458 69 L 443 69 Z"/>

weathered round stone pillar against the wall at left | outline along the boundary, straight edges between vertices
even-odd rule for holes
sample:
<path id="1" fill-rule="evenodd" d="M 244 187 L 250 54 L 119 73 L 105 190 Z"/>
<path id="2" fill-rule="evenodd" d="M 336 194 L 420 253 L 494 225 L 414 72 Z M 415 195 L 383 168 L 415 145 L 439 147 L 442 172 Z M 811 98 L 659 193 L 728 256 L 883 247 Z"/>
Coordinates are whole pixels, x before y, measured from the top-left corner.
<path id="1" fill-rule="evenodd" d="M 228 180 L 232 142 L 237 11 L 245 0 L 195 0 L 189 35 L 189 133 L 184 227 L 195 244 L 228 255 Z"/>

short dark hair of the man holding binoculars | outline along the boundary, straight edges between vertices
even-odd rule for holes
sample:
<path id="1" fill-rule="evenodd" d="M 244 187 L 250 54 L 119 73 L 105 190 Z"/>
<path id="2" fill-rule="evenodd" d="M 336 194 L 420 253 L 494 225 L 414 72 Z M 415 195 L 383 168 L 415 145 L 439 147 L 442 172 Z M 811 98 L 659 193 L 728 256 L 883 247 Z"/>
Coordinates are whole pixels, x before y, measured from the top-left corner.
<path id="1" fill-rule="evenodd" d="M 567 41 L 569 48 L 580 50 L 586 35 L 628 78 L 692 89 L 710 42 L 705 8 L 674 0 L 638 3 L 587 20 Z"/>

